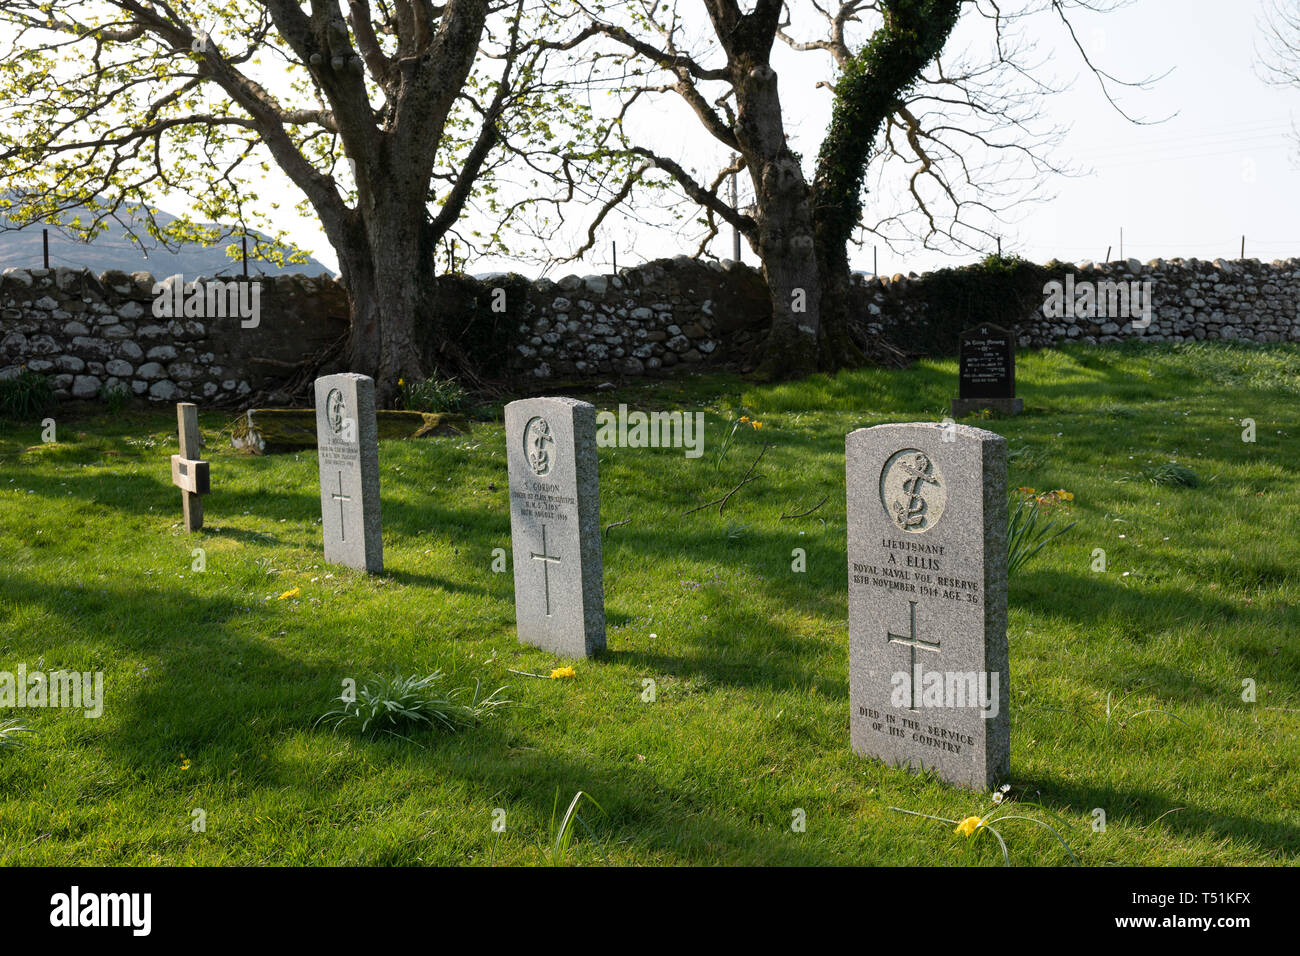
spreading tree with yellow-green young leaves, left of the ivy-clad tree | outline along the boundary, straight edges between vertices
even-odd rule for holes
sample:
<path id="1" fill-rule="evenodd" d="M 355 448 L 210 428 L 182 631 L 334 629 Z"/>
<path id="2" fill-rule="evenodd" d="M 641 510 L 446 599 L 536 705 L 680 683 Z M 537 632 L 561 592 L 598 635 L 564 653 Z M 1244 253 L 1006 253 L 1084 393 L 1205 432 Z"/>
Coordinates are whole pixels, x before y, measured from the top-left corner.
<path id="1" fill-rule="evenodd" d="M 181 195 L 211 221 L 274 229 L 260 189 L 277 165 L 338 254 L 351 368 L 387 403 L 426 355 L 464 360 L 424 306 L 439 243 L 499 248 L 545 198 L 504 202 L 500 177 L 554 173 L 556 107 L 580 109 L 534 40 L 555 16 L 533 0 L 0 0 L 4 206 L 14 225 L 87 237 Z M 459 233 L 476 203 L 497 228 Z M 92 221 L 61 219 L 75 207 Z M 194 225 L 148 232 L 216 238 Z"/>

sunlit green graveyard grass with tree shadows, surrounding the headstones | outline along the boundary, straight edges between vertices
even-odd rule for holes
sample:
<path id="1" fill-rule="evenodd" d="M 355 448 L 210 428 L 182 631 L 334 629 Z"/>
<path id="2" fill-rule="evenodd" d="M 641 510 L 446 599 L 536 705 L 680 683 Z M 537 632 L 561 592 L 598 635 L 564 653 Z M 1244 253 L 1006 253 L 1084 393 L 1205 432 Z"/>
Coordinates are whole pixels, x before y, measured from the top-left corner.
<path id="1" fill-rule="evenodd" d="M 1019 362 L 1026 412 L 980 424 L 1008 436 L 1011 486 L 1067 489 L 1058 514 L 1078 525 L 1011 580 L 1010 800 L 1057 814 L 1023 810 L 1084 865 L 1296 864 L 1300 349 Z M 936 420 L 954 386 L 953 362 L 926 362 L 592 395 L 699 407 L 708 431 L 694 460 L 601 451 L 602 522 L 630 523 L 604 542 L 610 649 L 572 679 L 511 672 L 564 662 L 516 643 L 511 575 L 491 570 L 510 546 L 499 424 L 381 445 L 378 578 L 321 561 L 315 454 L 235 455 L 217 412 L 192 536 L 170 410 L 55 412 L 51 445 L 36 423 L 0 424 L 0 670 L 107 675 L 99 719 L 0 709 L 35 731 L 0 749 L 0 864 L 533 865 L 556 793 L 582 791 L 601 812 L 582 812 L 571 862 L 1000 866 L 996 840 L 889 809 L 963 819 L 989 796 L 859 758 L 848 736 L 844 436 Z M 718 470 L 740 414 L 763 428 Z M 681 514 L 763 440 L 763 477 L 723 515 Z M 1169 462 L 1201 484 L 1131 480 Z M 515 704 L 410 740 L 316 723 L 346 678 L 438 669 L 448 687 L 508 684 Z M 1041 826 L 998 830 L 1014 864 L 1070 864 Z"/>

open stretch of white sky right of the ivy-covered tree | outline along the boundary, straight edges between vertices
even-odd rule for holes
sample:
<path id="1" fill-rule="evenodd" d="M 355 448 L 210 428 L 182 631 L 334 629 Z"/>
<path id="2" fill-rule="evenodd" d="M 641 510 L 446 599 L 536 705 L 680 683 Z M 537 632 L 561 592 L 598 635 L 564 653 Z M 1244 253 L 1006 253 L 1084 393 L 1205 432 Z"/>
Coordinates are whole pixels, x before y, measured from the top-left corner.
<path id="1" fill-rule="evenodd" d="M 1176 116 L 1135 127 L 1080 81 L 1054 108 L 1074 114 L 1067 150 L 1095 173 L 1060 181 L 1058 198 L 1030 212 L 1011 247 L 1039 261 L 1100 259 L 1106 246 L 1118 258 L 1123 228 L 1124 255 L 1143 260 L 1235 259 L 1243 234 L 1247 256 L 1300 255 L 1300 90 L 1257 75 L 1262 9 L 1261 0 L 1139 0 L 1095 18 L 1110 21 L 1100 56 L 1113 73 L 1174 68 L 1128 107 Z"/>

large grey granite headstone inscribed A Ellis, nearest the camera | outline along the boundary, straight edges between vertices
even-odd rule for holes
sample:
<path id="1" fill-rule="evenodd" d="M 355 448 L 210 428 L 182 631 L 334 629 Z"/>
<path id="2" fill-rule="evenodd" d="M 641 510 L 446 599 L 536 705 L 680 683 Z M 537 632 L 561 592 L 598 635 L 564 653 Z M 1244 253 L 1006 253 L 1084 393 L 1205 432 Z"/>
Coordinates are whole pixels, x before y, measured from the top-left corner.
<path id="1" fill-rule="evenodd" d="M 845 455 L 853 749 L 992 788 L 1010 765 L 1006 441 L 892 424 Z"/>

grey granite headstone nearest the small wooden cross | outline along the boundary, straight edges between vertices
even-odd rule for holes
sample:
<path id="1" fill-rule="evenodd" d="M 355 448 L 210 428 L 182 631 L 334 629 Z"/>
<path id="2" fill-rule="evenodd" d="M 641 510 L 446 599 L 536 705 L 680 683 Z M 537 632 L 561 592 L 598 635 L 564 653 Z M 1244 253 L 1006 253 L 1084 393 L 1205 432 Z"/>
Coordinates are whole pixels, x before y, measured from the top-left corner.
<path id="1" fill-rule="evenodd" d="M 344 372 L 316 380 L 325 561 L 384 570 L 374 380 Z"/>

